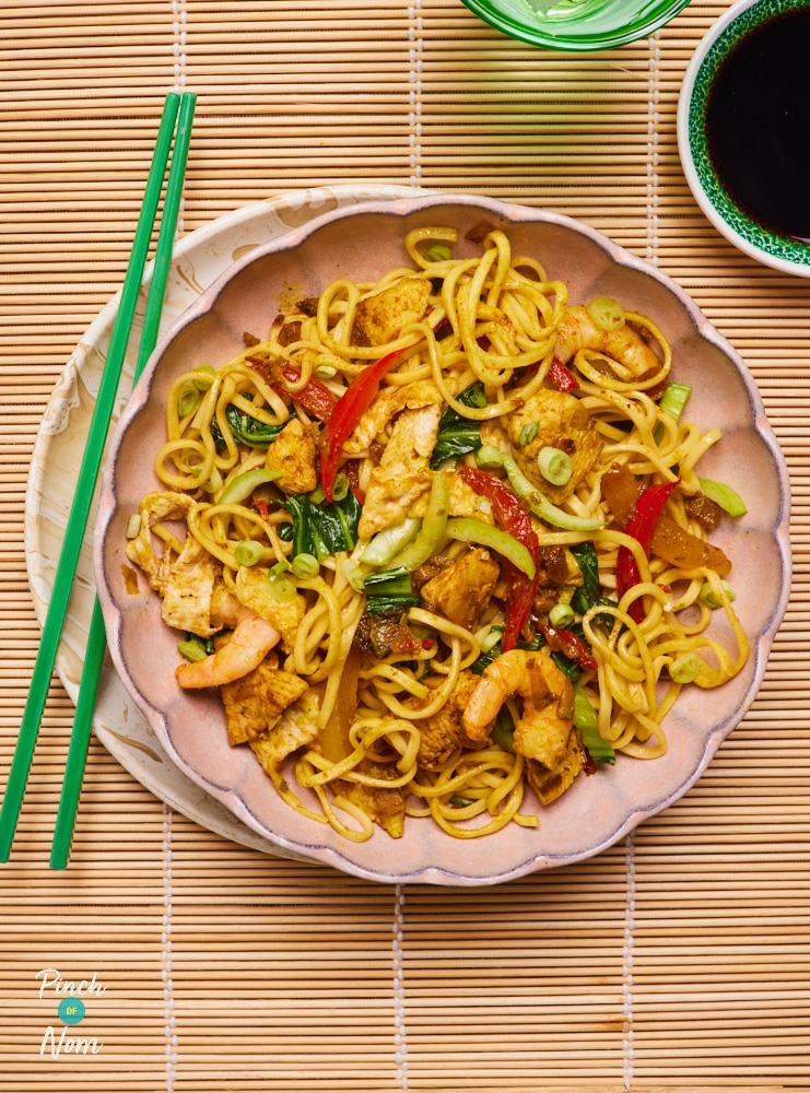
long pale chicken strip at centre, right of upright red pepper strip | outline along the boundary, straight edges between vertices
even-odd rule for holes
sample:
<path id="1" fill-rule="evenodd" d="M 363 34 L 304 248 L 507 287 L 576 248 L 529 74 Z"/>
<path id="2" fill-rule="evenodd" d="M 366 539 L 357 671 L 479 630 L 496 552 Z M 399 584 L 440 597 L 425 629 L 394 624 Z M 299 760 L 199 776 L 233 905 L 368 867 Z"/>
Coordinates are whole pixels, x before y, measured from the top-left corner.
<path id="1" fill-rule="evenodd" d="M 427 406 L 403 410 L 397 419 L 383 458 L 368 479 L 359 526 L 362 538 L 401 524 L 413 502 L 431 489 L 429 461 L 441 416 L 441 406 Z"/>

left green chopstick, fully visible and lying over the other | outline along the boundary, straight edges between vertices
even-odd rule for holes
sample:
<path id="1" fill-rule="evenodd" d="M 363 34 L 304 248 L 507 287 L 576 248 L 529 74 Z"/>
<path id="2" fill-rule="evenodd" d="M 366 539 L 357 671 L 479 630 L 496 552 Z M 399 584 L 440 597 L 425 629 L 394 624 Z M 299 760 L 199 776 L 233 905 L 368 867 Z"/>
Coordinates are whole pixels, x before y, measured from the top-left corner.
<path id="1" fill-rule="evenodd" d="M 172 148 L 172 139 L 179 109 L 179 95 L 166 96 L 166 103 L 157 132 L 155 151 L 143 196 L 141 214 L 138 220 L 132 252 L 121 289 L 118 314 L 110 336 L 107 360 L 102 373 L 95 409 L 90 423 L 87 443 L 79 470 L 75 494 L 71 505 L 64 541 L 59 555 L 54 588 L 48 604 L 43 635 L 39 643 L 31 690 L 20 726 L 9 779 L 0 808 L 0 861 L 8 861 L 14 841 L 20 809 L 34 757 L 39 724 L 48 697 L 54 674 L 59 640 L 68 612 L 68 603 L 82 549 L 84 531 L 90 516 L 98 470 L 109 428 L 109 420 L 124 365 L 124 356 L 129 340 L 130 327 L 138 302 L 143 268 L 152 238 L 155 214 L 160 202 L 166 163 Z"/>

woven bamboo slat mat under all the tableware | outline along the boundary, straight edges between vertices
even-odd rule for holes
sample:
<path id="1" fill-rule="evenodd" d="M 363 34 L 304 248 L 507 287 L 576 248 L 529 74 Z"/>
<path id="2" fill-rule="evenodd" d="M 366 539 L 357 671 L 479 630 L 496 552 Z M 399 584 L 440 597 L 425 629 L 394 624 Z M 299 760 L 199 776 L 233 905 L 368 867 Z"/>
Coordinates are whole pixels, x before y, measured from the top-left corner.
<path id="1" fill-rule="evenodd" d="M 22 533 L 36 430 L 120 286 L 173 87 L 199 94 L 183 232 L 374 180 L 557 210 L 671 274 L 760 385 L 795 551 L 761 693 L 699 784 L 601 856 L 496 889 L 268 857 L 173 811 L 96 740 L 55 873 L 72 717 L 55 680 L 0 867 L 0 1090 L 810 1089 L 810 282 L 727 245 L 681 172 L 681 78 L 724 9 L 692 0 L 648 39 L 565 56 L 457 0 L 0 5 L 2 784 L 39 633 Z M 47 968 L 87 980 L 96 1054 L 43 1050 L 63 1027 Z"/>

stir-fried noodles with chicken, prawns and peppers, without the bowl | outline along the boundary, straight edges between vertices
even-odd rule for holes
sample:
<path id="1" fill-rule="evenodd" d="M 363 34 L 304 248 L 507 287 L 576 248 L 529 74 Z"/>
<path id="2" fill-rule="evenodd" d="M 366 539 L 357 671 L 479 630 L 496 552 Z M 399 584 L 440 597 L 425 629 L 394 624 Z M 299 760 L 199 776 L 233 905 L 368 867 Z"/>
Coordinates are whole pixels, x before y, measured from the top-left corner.
<path id="1" fill-rule="evenodd" d="M 666 762 L 682 687 L 748 657 L 709 542 L 744 502 L 700 475 L 720 431 L 664 333 L 467 239 L 413 231 L 179 376 L 127 530 L 179 686 L 219 687 L 230 744 L 355 841 L 536 826 L 620 752 Z"/>

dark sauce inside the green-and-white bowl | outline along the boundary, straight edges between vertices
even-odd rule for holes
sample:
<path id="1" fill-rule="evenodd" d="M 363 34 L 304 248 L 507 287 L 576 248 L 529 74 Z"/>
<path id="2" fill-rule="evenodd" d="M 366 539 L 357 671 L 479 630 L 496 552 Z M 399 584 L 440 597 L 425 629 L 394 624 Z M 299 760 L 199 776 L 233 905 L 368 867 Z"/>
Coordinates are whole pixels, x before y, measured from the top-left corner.
<path id="1" fill-rule="evenodd" d="M 708 94 L 706 137 L 751 220 L 810 238 L 810 9 L 774 15 L 733 47 Z"/>

